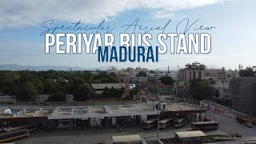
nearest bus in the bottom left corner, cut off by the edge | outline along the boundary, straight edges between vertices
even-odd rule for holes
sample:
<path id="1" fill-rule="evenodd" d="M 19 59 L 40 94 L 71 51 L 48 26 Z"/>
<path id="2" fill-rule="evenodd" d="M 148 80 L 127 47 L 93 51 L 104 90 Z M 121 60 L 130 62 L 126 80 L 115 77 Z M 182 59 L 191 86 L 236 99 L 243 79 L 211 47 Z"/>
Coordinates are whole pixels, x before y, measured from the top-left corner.
<path id="1" fill-rule="evenodd" d="M 13 130 L 9 132 L 0 133 L 0 143 L 14 142 L 22 138 L 28 138 L 29 131 L 26 129 Z"/>

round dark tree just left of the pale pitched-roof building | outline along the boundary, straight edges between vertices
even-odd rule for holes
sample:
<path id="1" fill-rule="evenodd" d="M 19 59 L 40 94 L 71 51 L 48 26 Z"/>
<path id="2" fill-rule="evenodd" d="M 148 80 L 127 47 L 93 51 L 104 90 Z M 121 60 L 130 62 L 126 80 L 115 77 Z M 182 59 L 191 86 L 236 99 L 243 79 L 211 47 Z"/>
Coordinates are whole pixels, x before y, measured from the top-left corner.
<path id="1" fill-rule="evenodd" d="M 88 98 L 94 97 L 94 89 L 88 83 L 80 84 L 76 90 L 74 90 L 74 100 L 85 101 Z"/>

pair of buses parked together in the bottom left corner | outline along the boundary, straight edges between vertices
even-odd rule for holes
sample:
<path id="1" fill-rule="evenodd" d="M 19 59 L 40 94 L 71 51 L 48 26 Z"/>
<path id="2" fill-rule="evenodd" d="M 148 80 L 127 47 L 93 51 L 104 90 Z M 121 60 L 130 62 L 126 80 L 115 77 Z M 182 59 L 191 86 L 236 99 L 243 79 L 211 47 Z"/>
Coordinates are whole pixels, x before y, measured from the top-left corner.
<path id="1" fill-rule="evenodd" d="M 0 132 L 0 143 L 14 142 L 22 138 L 28 138 L 30 132 L 36 130 L 34 125 L 16 126 Z"/>

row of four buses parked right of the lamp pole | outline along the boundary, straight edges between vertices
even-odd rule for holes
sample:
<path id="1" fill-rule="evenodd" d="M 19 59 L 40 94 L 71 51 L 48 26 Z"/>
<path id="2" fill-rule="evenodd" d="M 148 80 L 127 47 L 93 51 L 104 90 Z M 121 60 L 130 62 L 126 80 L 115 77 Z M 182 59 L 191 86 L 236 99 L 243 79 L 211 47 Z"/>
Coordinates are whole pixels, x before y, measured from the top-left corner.
<path id="1" fill-rule="evenodd" d="M 180 128 L 185 126 L 188 122 L 187 118 L 165 118 L 159 121 L 159 128 L 165 129 L 167 126 L 174 126 L 175 128 Z M 158 125 L 158 119 L 153 118 L 143 123 L 143 129 L 150 130 Z M 218 122 L 191 122 L 191 128 L 193 130 L 217 130 Z"/>

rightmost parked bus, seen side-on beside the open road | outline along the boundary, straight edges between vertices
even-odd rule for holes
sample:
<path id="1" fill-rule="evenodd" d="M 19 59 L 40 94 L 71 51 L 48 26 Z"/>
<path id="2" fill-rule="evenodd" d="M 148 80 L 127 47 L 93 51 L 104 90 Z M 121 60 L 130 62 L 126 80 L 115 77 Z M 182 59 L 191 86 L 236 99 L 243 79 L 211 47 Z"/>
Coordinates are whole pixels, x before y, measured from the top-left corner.
<path id="1" fill-rule="evenodd" d="M 217 130 L 218 129 L 218 122 L 211 121 L 211 122 L 192 122 L 191 128 L 193 130 Z"/>

